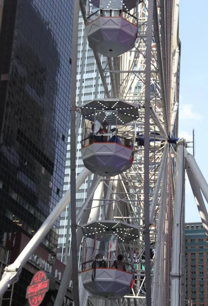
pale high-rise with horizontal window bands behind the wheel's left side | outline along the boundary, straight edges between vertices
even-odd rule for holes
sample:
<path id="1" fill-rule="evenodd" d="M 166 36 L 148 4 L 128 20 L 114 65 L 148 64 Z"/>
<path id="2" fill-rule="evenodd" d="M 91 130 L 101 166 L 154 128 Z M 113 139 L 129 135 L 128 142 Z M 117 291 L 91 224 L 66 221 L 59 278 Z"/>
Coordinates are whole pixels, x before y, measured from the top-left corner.
<path id="1" fill-rule="evenodd" d="M 100 56 L 101 63 L 106 62 L 106 58 Z M 106 81 L 110 84 L 110 76 L 106 74 Z M 93 98 L 105 98 L 102 82 L 100 79 L 97 64 L 95 62 L 93 50 L 89 48 L 88 39 L 85 31 L 85 23 L 83 17 L 79 18 L 79 32 L 78 32 L 78 54 L 77 54 L 77 91 L 76 104 L 82 105 Z M 81 140 L 82 140 L 82 118 L 79 113 L 76 113 L 76 174 L 83 170 L 84 165 L 81 157 Z M 80 190 L 76 194 L 76 210 L 77 212 L 82 207 L 86 197 L 87 191 L 91 185 L 93 174 L 89 176 L 82 184 Z M 70 130 L 67 142 L 67 154 L 64 176 L 63 192 L 69 189 L 70 182 Z M 71 247 L 71 230 L 70 224 L 70 206 L 67 207 L 60 218 L 59 240 L 57 258 L 66 263 Z"/>

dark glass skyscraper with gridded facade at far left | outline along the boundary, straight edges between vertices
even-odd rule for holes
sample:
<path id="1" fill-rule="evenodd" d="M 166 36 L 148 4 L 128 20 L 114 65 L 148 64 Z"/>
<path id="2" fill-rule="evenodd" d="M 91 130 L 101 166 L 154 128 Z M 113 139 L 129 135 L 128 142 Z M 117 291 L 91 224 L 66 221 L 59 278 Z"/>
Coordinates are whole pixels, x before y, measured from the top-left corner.
<path id="1" fill-rule="evenodd" d="M 1 1 L 0 14 L 0 243 L 11 258 L 8 235 L 30 239 L 62 197 L 73 1 Z M 41 245 L 52 257 L 58 230 Z M 25 303 L 32 275 L 23 269 L 4 306 Z"/>

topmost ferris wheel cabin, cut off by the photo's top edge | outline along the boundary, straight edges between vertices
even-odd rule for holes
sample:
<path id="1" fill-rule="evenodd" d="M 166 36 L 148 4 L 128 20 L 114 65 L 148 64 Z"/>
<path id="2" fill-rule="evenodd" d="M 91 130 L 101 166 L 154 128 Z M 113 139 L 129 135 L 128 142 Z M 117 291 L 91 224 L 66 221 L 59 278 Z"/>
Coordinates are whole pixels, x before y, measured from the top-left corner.
<path id="1" fill-rule="evenodd" d="M 106 57 L 117 57 L 135 46 L 138 0 L 87 0 L 89 46 Z"/>

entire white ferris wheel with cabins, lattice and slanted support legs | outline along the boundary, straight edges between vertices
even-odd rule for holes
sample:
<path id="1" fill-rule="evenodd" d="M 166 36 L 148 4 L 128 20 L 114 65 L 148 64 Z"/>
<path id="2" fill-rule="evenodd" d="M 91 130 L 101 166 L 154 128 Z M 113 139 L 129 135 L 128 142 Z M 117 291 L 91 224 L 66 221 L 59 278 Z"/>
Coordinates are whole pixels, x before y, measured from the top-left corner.
<path id="1" fill-rule="evenodd" d="M 79 8 L 74 7 L 77 16 Z M 71 173 L 73 192 L 66 192 L 6 268 L 0 293 L 18 280 L 68 202 L 75 205 L 75 190 L 93 173 L 81 211 L 71 214 L 73 248 L 55 306 L 62 305 L 71 278 L 75 306 L 183 306 L 185 169 L 206 233 L 208 216 L 201 192 L 208 200 L 208 186 L 186 149 L 188 143 L 177 138 L 178 1 L 87 0 L 80 7 L 106 98 L 72 104 L 71 133 L 75 111 L 83 116 L 81 152 L 86 168 L 76 185 Z M 75 49 L 73 53 L 75 62 Z M 106 67 L 99 55 L 108 58 Z M 105 72 L 110 74 L 111 91 Z M 82 251 L 78 266 L 77 246 Z"/>

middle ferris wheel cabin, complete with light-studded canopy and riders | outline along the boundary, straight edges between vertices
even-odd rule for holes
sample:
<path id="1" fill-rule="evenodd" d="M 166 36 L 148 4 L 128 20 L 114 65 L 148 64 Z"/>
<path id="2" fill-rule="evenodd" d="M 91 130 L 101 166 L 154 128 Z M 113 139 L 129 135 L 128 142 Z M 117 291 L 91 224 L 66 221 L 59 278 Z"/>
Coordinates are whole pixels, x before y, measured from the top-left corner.
<path id="1" fill-rule="evenodd" d="M 131 168 L 138 107 L 119 99 L 96 99 L 81 111 L 85 167 L 100 176 L 115 176 Z"/>

